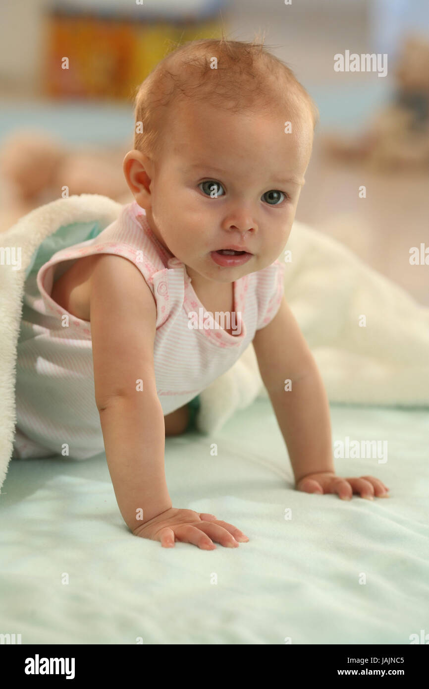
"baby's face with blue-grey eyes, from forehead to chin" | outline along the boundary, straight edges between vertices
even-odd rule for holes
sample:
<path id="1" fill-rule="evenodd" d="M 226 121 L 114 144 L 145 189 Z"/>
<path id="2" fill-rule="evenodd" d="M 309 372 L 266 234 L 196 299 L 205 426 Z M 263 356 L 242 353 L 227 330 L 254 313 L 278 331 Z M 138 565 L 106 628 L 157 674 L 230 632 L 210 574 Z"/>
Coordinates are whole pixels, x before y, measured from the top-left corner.
<path id="1" fill-rule="evenodd" d="M 191 278 L 233 282 L 282 253 L 313 143 L 309 115 L 292 121 L 289 134 L 287 119 L 287 113 L 232 114 L 204 103 L 182 103 L 169 118 L 164 150 L 146 170 L 150 195 L 134 196 Z M 219 265 L 212 252 L 231 246 L 251 256 L 241 265 Z"/>

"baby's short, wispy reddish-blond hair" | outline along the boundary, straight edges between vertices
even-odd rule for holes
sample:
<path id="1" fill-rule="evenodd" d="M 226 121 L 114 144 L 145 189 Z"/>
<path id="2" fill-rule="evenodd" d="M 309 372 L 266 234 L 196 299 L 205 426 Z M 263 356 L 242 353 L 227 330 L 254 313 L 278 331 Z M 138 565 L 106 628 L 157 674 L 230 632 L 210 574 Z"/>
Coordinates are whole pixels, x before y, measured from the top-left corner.
<path id="1" fill-rule="evenodd" d="M 213 60 L 216 59 L 215 60 Z M 216 68 L 213 69 L 213 65 Z M 150 158 L 161 150 L 167 109 L 177 99 L 205 101 L 233 112 L 270 113 L 284 107 L 284 120 L 310 115 L 317 105 L 292 70 L 268 52 L 263 42 L 222 39 L 188 41 L 161 60 L 134 92 L 134 149 Z"/>

